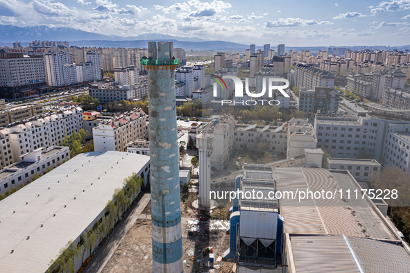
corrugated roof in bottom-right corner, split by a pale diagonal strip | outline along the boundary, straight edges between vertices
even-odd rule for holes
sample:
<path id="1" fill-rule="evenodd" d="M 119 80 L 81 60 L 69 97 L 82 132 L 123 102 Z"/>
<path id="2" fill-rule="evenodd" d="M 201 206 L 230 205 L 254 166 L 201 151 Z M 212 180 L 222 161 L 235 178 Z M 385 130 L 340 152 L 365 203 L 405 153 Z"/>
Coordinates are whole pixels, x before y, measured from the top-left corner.
<path id="1" fill-rule="evenodd" d="M 400 241 L 353 236 L 290 235 L 296 272 L 410 272 Z"/>

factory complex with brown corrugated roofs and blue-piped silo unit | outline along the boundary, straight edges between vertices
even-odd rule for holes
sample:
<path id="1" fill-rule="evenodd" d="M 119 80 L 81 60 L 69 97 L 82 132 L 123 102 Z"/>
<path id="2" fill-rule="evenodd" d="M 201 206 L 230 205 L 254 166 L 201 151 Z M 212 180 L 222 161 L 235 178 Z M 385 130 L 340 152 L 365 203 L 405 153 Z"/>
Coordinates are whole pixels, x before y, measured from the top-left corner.
<path id="1" fill-rule="evenodd" d="M 271 199 L 269 192 L 343 191 L 343 197 Z M 262 191 L 234 200 L 228 261 L 245 272 L 410 272 L 410 248 L 348 170 L 245 164 L 235 190 Z M 268 198 L 265 198 L 268 197 Z"/>

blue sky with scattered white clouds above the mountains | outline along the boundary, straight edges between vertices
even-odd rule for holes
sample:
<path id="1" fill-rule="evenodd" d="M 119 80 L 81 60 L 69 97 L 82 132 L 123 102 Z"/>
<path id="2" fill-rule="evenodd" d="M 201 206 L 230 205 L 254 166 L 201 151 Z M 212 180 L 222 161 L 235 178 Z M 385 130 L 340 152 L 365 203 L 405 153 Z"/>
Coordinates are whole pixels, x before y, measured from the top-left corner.
<path id="1" fill-rule="evenodd" d="M 0 24 L 287 46 L 410 44 L 410 0 L 0 0 Z"/>

